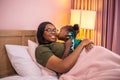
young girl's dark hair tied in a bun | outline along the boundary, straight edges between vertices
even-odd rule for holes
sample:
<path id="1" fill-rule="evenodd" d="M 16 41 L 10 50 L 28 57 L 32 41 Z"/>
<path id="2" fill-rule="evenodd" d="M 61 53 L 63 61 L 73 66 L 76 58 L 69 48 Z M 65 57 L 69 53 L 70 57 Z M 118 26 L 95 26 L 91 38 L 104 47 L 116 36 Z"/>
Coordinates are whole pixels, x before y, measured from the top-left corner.
<path id="1" fill-rule="evenodd" d="M 69 32 L 73 32 L 75 36 L 77 35 L 77 32 L 79 31 L 79 25 L 78 24 L 74 24 L 73 26 L 72 25 L 66 25 L 63 28 L 66 29 Z"/>

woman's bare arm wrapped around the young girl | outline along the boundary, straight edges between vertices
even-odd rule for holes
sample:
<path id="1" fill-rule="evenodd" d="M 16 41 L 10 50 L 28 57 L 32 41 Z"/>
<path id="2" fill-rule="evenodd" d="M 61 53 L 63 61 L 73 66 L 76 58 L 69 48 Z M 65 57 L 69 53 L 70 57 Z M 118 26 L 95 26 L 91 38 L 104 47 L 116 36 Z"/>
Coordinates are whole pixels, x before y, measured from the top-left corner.
<path id="1" fill-rule="evenodd" d="M 90 40 L 84 39 L 81 44 L 79 44 L 78 47 L 65 59 L 60 59 L 55 55 L 51 56 L 46 64 L 46 67 L 58 73 L 65 73 L 69 71 L 76 63 L 84 46 L 90 43 L 92 43 Z"/>

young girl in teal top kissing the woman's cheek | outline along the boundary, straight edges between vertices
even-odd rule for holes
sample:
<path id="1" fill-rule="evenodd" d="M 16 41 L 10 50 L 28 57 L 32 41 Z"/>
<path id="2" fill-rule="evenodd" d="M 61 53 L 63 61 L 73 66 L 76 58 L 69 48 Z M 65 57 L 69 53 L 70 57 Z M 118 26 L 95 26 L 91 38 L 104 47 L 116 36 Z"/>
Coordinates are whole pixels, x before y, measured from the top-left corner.
<path id="1" fill-rule="evenodd" d="M 81 43 L 82 40 L 78 40 L 76 39 L 76 35 L 79 33 L 79 25 L 75 24 L 74 26 L 71 25 L 66 25 L 63 26 L 60 29 L 60 32 L 58 34 L 58 39 L 59 40 L 63 40 L 63 41 L 67 41 L 67 40 L 71 40 L 71 47 L 67 47 L 67 51 L 64 53 L 63 58 L 68 56 L 70 53 L 72 53 L 74 51 L 74 49 Z M 86 49 L 91 49 L 92 46 L 89 45 L 86 47 Z"/>

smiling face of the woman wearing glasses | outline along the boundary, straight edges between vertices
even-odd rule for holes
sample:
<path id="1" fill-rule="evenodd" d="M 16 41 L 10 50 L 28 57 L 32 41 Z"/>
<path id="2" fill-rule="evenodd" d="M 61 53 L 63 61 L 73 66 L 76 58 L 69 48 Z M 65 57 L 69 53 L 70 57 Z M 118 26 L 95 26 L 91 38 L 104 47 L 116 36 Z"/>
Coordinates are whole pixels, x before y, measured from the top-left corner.
<path id="1" fill-rule="evenodd" d="M 55 42 L 57 40 L 57 30 L 55 26 L 47 24 L 43 32 L 43 37 L 46 43 Z"/>

